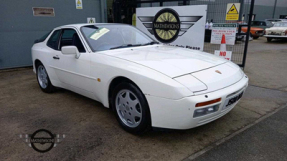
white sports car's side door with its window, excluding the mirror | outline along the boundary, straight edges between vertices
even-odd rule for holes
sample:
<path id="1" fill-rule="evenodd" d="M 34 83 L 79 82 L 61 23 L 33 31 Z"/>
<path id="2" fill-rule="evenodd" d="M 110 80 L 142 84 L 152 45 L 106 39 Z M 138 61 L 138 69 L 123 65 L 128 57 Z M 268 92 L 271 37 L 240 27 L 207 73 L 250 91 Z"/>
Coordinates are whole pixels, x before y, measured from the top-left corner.
<path id="1" fill-rule="evenodd" d="M 81 56 L 76 58 L 75 55 L 64 55 L 61 48 L 65 46 L 76 46 Z M 83 91 L 92 92 L 90 87 L 90 53 L 87 52 L 75 28 L 62 28 L 58 50 L 54 52 L 52 57 L 52 68 L 59 81 L 66 88 L 80 93 Z"/>

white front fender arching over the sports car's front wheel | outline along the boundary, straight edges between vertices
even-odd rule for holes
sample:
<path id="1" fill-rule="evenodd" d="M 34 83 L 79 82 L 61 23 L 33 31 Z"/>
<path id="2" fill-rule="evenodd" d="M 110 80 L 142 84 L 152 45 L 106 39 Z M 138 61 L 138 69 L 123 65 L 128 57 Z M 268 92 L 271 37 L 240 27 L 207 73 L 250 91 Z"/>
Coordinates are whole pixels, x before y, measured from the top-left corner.
<path id="1" fill-rule="evenodd" d="M 168 99 L 180 99 L 193 95 L 189 89 L 153 69 L 103 54 L 91 57 L 91 77 L 94 81 L 93 91 L 98 101 L 108 107 L 108 90 L 110 83 L 117 77 L 133 81 L 145 95 Z M 97 78 L 101 82 L 97 82 Z"/>

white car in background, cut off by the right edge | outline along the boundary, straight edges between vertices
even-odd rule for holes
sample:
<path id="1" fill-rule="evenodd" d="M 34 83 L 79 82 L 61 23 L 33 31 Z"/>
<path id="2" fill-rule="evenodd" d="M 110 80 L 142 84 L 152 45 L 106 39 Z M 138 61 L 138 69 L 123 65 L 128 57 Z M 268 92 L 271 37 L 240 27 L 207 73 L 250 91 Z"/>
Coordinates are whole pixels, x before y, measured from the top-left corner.
<path id="1" fill-rule="evenodd" d="M 287 39 L 287 22 L 276 22 L 273 27 L 265 30 L 268 42 L 272 39 Z"/>

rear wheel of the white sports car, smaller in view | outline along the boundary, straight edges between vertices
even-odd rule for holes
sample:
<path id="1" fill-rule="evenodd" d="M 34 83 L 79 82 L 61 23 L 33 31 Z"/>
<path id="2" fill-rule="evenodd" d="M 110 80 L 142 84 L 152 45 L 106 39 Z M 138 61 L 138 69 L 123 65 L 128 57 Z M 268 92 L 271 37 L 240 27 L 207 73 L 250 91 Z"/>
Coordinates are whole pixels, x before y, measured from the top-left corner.
<path id="1" fill-rule="evenodd" d="M 36 64 L 36 76 L 38 84 L 43 92 L 52 93 L 55 91 L 56 88 L 52 85 L 46 68 L 42 63 Z"/>

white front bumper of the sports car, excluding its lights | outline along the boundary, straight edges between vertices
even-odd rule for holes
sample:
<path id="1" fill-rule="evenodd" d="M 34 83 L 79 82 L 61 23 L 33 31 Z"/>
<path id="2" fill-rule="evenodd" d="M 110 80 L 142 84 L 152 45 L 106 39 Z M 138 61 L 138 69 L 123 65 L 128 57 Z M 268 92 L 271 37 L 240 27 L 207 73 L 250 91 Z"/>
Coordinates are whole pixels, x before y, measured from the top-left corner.
<path id="1" fill-rule="evenodd" d="M 151 112 L 152 126 L 168 129 L 190 129 L 214 121 L 227 114 L 238 103 L 237 101 L 227 109 L 222 110 L 227 96 L 236 91 L 238 93 L 245 91 L 247 86 L 248 77 L 244 76 L 239 82 L 224 89 L 179 100 L 146 95 Z M 206 95 L 208 98 L 206 98 Z M 218 111 L 196 118 L 193 117 L 194 111 L 199 109 L 198 107 L 195 108 L 197 103 L 217 98 L 221 98 L 221 101 L 213 105 L 220 104 Z"/>

